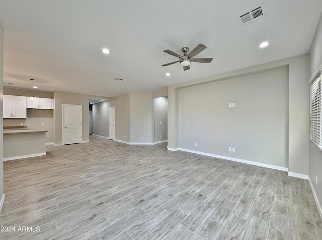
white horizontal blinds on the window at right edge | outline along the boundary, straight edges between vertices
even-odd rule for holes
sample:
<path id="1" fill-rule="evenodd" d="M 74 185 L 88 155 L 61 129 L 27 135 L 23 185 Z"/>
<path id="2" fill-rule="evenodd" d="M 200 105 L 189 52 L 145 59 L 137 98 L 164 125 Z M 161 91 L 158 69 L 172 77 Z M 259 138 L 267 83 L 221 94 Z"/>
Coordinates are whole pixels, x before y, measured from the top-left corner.
<path id="1" fill-rule="evenodd" d="M 321 72 L 311 82 L 310 139 L 321 148 Z"/>

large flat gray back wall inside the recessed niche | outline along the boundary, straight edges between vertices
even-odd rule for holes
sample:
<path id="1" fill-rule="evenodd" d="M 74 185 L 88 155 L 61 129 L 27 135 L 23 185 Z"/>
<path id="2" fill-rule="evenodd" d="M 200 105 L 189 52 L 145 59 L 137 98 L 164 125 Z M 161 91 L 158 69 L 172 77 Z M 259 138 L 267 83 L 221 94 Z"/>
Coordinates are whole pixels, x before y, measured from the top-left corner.
<path id="1" fill-rule="evenodd" d="M 288 168 L 288 68 L 179 89 L 179 147 Z"/>

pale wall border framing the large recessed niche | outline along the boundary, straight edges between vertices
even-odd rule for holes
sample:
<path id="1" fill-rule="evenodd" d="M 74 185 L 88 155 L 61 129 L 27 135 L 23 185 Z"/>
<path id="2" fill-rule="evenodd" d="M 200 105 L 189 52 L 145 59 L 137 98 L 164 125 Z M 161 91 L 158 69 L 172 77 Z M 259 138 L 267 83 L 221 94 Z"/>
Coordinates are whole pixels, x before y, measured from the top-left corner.
<path id="1" fill-rule="evenodd" d="M 182 84 L 172 85 L 168 88 L 168 147 L 170 150 L 178 150 L 180 143 L 180 115 L 179 106 L 182 104 L 180 99 L 181 88 L 192 87 L 195 85 L 226 81 L 232 78 L 239 78 L 267 72 L 270 70 L 288 67 L 288 173 L 289 175 L 307 178 L 308 175 L 308 126 L 309 126 L 309 88 L 308 79 L 308 54 L 282 59 L 280 61 L 258 65 L 246 69 L 241 69 L 229 73 L 198 79 Z M 262 91 L 262 88 L 256 89 Z M 203 97 L 203 94 L 198 96 Z M 272 96 L 273 98 L 274 96 Z M 197 99 L 196 99 L 197 100 Z M 193 113 L 192 113 L 193 114 Z M 198 116 L 197 116 L 198 117 Z M 206 116 L 204 116 L 207 118 Z M 206 121 L 206 120 L 204 120 Z M 210 120 L 211 121 L 211 120 Z M 206 132 L 204 126 L 200 126 L 201 132 Z M 243 126 L 240 126 L 240 130 Z M 225 140 L 223 140 L 225 141 Z M 274 145 L 274 142 L 268 143 L 268 147 Z M 190 147 L 188 150 L 192 150 Z M 226 148 L 225 148 L 226 149 Z M 205 149 L 205 151 L 209 151 Z M 221 150 L 220 150 L 221 151 Z M 249 155 L 256 156 L 256 148 L 251 148 Z M 227 154 L 228 155 L 228 154 Z M 227 156 L 229 157 L 229 156 Z M 267 164 L 270 164 L 267 162 Z"/>

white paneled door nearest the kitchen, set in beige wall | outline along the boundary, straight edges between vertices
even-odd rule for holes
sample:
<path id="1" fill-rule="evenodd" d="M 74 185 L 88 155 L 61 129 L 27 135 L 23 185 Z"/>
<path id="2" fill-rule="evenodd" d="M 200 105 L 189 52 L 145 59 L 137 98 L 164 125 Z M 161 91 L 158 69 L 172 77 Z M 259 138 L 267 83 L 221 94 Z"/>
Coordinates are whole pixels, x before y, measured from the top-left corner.
<path id="1" fill-rule="evenodd" d="M 64 144 L 82 142 L 82 105 L 63 105 Z"/>

